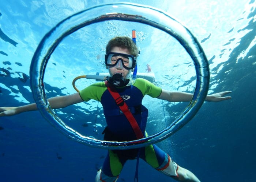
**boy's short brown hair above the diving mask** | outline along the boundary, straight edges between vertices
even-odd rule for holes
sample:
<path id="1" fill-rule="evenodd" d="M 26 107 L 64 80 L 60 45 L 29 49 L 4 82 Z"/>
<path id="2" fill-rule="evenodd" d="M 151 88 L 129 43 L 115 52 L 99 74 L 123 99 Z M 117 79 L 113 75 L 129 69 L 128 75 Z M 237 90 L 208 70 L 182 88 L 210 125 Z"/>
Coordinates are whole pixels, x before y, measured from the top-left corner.
<path id="1" fill-rule="evenodd" d="M 113 47 L 127 48 L 131 55 L 137 57 L 139 55 L 139 50 L 136 44 L 132 41 L 131 38 L 125 36 L 114 37 L 109 40 L 108 45 L 106 46 L 106 54 L 111 52 Z"/>

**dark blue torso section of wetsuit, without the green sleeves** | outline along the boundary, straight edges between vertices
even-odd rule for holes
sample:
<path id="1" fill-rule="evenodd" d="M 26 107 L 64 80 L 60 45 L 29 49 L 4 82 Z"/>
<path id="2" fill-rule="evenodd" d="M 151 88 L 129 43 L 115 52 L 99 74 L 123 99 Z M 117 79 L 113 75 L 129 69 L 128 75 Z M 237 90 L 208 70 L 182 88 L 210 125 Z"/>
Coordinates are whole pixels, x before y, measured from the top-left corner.
<path id="1" fill-rule="evenodd" d="M 125 100 L 129 110 L 136 119 L 140 130 L 144 133 L 146 128 L 147 110 L 142 106 L 143 94 L 135 86 L 118 88 L 118 93 Z M 132 94 L 131 94 L 132 93 Z M 136 98 L 136 99 L 134 99 Z M 135 132 L 126 116 L 117 106 L 114 98 L 109 91 L 102 94 L 101 103 L 104 110 L 104 115 L 108 125 L 108 132 L 112 134 L 110 138 L 105 138 L 110 141 L 131 141 L 135 140 Z M 143 115 L 142 115 L 143 112 Z"/>

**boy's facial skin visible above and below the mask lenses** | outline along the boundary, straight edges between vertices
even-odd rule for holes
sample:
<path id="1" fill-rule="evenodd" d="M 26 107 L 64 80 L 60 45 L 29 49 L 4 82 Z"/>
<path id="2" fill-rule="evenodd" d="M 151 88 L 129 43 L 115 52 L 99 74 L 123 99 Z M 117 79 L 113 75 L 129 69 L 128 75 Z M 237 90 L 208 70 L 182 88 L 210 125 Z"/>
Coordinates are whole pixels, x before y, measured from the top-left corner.
<path id="1" fill-rule="evenodd" d="M 113 47 L 111 52 L 116 52 L 116 53 L 122 53 L 122 54 L 129 54 L 130 52 L 128 51 L 127 48 L 121 48 L 121 47 Z M 121 57 L 120 57 L 121 58 Z M 109 74 L 110 76 L 113 76 L 116 73 L 121 73 L 123 75 L 123 78 L 126 78 L 126 76 L 129 74 L 130 70 L 125 69 L 122 66 L 121 61 L 119 61 L 116 66 L 109 67 Z"/>

